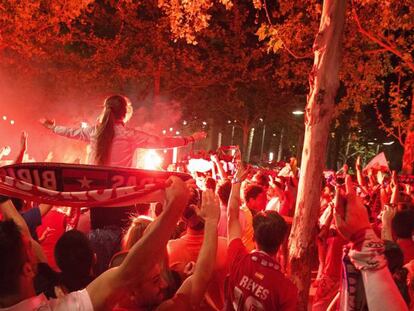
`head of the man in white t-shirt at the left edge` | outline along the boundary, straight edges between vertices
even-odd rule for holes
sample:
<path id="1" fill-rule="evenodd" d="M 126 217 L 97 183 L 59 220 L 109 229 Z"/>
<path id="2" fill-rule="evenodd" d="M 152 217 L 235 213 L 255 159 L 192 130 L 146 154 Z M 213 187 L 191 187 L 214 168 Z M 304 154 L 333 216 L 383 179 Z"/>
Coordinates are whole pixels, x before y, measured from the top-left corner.
<path id="1" fill-rule="evenodd" d="M 12 221 L 0 222 L 0 297 L 19 295 L 33 286 L 35 263 L 29 241 Z M 22 282 L 25 282 L 22 284 Z"/>

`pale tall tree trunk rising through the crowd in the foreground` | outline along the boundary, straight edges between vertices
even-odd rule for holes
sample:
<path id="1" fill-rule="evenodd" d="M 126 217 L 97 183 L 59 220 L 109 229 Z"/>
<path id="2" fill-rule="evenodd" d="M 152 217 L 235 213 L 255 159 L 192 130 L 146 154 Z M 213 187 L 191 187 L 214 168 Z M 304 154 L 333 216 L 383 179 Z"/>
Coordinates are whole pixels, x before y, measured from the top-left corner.
<path id="1" fill-rule="evenodd" d="M 338 70 L 345 20 L 345 0 L 326 0 L 314 42 L 315 60 L 309 74 L 310 91 L 305 114 L 305 139 L 296 210 L 290 235 L 290 274 L 299 290 L 297 310 L 307 310 L 311 254 L 315 253 L 322 172 L 326 145 L 339 86 Z"/>

